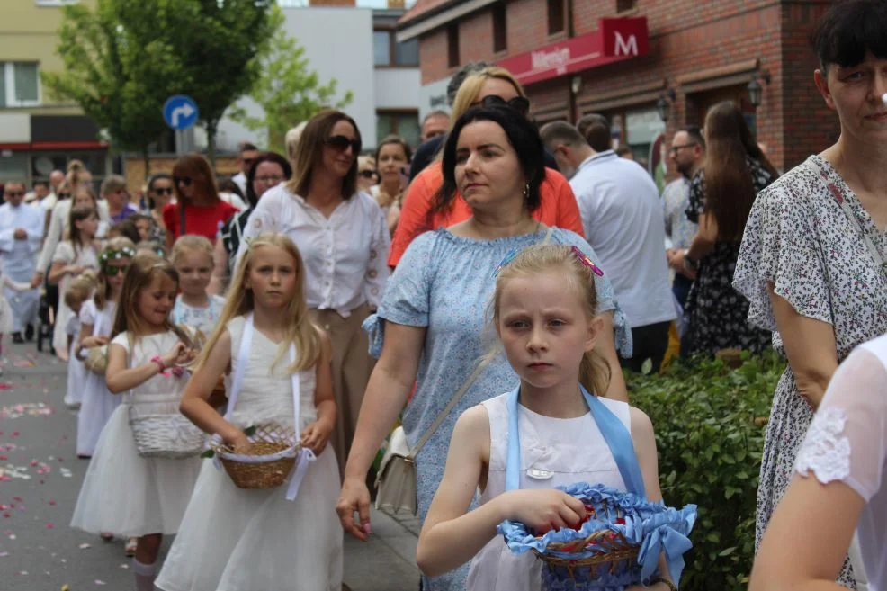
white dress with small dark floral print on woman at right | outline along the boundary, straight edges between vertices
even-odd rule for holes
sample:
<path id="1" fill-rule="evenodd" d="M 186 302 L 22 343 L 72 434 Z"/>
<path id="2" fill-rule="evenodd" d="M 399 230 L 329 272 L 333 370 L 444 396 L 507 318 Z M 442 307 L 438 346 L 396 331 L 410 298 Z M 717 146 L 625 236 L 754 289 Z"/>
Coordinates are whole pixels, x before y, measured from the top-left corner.
<path id="1" fill-rule="evenodd" d="M 882 254 L 887 238 L 831 164 L 811 156 L 850 206 Z M 829 323 L 838 362 L 887 332 L 887 280 L 822 179 L 797 166 L 757 196 L 739 251 L 733 286 L 748 298 L 748 321 L 776 330 L 767 284 L 804 317 Z M 784 353 L 774 333 L 774 346 Z M 792 478 L 813 410 L 798 392 L 791 366 L 776 386 L 757 491 L 757 544 Z M 839 579 L 854 588 L 845 564 Z"/>

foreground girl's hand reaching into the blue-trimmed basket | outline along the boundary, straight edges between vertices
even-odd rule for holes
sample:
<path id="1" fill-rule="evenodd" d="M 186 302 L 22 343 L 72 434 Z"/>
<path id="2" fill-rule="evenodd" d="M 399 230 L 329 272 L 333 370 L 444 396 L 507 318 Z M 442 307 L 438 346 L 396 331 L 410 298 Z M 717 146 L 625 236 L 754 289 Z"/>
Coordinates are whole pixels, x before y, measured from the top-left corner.
<path id="1" fill-rule="evenodd" d="M 553 488 L 548 490 L 511 490 L 499 495 L 506 515 L 542 535 L 550 530 L 576 527 L 585 519 L 585 506 L 576 497 Z"/>

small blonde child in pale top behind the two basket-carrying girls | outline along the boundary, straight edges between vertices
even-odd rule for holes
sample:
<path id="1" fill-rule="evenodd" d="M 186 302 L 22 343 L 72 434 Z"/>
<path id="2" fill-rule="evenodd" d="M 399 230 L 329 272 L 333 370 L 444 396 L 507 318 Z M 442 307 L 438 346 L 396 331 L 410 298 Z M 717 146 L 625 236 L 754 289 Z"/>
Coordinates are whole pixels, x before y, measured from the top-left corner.
<path id="1" fill-rule="evenodd" d="M 171 260 L 182 290 L 175 299 L 173 321 L 211 335 L 225 306 L 224 298 L 206 292 L 212 276 L 212 243 L 193 234 L 178 237 Z"/>

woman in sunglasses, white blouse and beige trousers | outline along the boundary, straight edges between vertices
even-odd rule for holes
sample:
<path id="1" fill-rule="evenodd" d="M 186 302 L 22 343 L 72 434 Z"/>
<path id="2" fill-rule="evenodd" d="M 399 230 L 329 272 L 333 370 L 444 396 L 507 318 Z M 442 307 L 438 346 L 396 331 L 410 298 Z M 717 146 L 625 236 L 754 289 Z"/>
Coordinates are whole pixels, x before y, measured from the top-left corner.
<path id="1" fill-rule="evenodd" d="M 249 239 L 281 232 L 305 261 L 305 295 L 315 321 L 333 341 L 336 432 L 340 470 L 354 438 L 372 365 L 361 325 L 385 291 L 390 237 L 379 205 L 357 189 L 361 135 L 343 112 L 324 111 L 302 131 L 292 178 L 264 193 L 244 230 Z"/>

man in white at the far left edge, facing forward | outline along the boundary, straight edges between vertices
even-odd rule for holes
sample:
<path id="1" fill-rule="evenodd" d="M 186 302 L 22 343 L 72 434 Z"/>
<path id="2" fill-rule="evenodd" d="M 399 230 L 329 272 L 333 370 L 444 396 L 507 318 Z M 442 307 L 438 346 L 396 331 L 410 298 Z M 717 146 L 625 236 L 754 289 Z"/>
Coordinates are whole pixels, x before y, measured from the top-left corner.
<path id="1" fill-rule="evenodd" d="M 34 257 L 43 239 L 42 210 L 23 203 L 24 193 L 24 183 L 7 183 L 4 188 L 6 202 L 0 206 L 0 262 L 4 283 L 5 279 L 20 283 L 31 281 Z M 13 343 L 24 343 L 22 328 L 26 338 L 31 340 L 40 292 L 35 289 L 17 291 L 4 284 L 4 295 L 13 309 Z"/>

